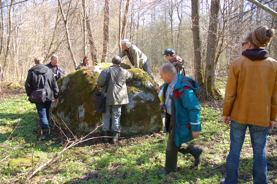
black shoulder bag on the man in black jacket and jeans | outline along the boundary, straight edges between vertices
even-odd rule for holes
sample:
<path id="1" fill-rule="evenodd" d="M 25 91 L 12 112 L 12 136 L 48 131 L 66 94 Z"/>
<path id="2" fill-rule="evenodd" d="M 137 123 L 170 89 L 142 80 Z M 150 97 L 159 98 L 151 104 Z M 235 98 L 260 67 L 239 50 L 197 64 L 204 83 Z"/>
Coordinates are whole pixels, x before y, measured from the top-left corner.
<path id="1" fill-rule="evenodd" d="M 45 83 L 44 83 L 43 88 L 33 89 L 30 96 L 29 96 L 29 98 L 28 98 L 29 102 L 39 104 L 39 103 L 44 103 L 46 101 L 46 99 L 45 99 L 45 96 L 46 96 L 45 86 L 47 85 L 47 79 L 48 79 L 48 76 L 46 74 Z"/>

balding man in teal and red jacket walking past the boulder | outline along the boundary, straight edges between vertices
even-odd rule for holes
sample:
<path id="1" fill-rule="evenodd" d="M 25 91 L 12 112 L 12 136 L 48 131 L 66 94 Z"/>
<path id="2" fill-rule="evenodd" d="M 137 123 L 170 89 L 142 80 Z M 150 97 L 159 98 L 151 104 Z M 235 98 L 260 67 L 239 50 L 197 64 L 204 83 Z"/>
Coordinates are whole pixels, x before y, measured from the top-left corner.
<path id="1" fill-rule="evenodd" d="M 187 142 L 199 137 L 201 131 L 200 105 L 195 94 L 197 83 L 184 75 L 177 74 L 172 63 L 160 67 L 161 79 L 165 82 L 163 95 L 166 108 L 166 132 L 169 133 L 166 147 L 166 165 L 158 175 L 176 172 L 178 151 L 193 155 L 194 166 L 200 162 L 201 148 L 196 148 Z"/>

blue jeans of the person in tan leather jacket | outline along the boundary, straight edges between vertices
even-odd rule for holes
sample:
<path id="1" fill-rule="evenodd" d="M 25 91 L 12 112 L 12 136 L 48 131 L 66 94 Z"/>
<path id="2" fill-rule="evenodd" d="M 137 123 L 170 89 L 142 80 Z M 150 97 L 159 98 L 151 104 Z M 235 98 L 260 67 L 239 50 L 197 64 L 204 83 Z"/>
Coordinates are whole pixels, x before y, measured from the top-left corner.
<path id="1" fill-rule="evenodd" d="M 231 120 L 230 152 L 226 159 L 225 184 L 238 183 L 240 151 L 244 142 L 245 132 L 249 128 L 253 148 L 253 184 L 267 184 L 267 159 L 265 158 L 265 144 L 267 142 L 268 127 L 243 124 Z"/>

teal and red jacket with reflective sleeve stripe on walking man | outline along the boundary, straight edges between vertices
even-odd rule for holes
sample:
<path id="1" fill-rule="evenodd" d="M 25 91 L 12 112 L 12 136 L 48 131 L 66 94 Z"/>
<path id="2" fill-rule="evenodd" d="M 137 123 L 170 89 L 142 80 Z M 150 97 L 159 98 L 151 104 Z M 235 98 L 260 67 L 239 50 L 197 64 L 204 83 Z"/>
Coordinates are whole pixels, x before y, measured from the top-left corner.
<path id="1" fill-rule="evenodd" d="M 162 88 L 166 94 L 168 84 Z M 201 131 L 200 105 L 196 98 L 198 84 L 191 78 L 178 74 L 178 81 L 174 86 L 171 99 L 171 125 L 175 138 L 175 145 L 193 140 L 191 131 Z M 170 115 L 166 112 L 166 132 L 170 130 Z"/>

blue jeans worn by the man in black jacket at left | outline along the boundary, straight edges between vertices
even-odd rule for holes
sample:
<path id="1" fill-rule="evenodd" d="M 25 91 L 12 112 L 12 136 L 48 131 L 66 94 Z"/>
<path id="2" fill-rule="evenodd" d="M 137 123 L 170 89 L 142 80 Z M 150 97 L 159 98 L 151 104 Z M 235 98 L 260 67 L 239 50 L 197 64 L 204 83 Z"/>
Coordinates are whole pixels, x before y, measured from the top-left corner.
<path id="1" fill-rule="evenodd" d="M 50 109 L 51 103 L 52 103 L 51 101 L 46 100 L 45 103 L 36 104 L 37 113 L 39 116 L 39 122 L 41 124 L 42 129 L 49 128 L 48 120 L 49 120 L 49 109 Z"/>

